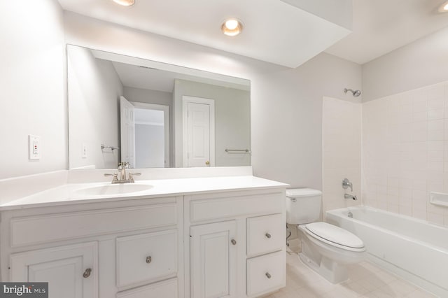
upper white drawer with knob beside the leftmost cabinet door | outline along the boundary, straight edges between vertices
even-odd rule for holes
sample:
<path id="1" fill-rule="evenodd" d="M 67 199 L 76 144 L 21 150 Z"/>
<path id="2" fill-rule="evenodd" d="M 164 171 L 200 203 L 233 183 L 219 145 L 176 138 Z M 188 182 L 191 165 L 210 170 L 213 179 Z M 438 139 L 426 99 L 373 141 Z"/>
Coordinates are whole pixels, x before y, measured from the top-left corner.
<path id="1" fill-rule="evenodd" d="M 177 273 L 175 229 L 118 237 L 116 239 L 117 286 L 151 282 Z"/>

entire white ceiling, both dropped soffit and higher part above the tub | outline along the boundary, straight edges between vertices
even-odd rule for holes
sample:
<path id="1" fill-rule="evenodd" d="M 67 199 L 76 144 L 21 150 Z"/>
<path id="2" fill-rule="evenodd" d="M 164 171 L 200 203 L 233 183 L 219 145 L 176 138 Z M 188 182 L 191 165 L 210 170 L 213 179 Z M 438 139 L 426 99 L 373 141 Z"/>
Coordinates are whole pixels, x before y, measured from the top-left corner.
<path id="1" fill-rule="evenodd" d="M 443 0 L 353 0 L 352 33 L 316 9 L 297 8 L 316 3 L 328 16 L 322 4 L 343 0 L 136 0 L 130 8 L 111 0 L 58 1 L 74 13 L 292 68 L 323 51 L 365 64 L 448 26 L 448 13 L 437 13 Z M 334 5 L 330 12 L 340 18 Z M 242 20 L 243 33 L 224 36 L 226 17 Z"/>

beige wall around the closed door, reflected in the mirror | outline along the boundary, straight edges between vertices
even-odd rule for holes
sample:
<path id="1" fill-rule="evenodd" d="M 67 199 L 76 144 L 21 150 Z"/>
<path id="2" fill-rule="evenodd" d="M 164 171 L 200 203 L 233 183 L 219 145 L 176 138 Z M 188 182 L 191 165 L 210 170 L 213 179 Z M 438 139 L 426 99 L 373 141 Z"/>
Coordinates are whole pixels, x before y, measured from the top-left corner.
<path id="1" fill-rule="evenodd" d="M 189 80 L 175 80 L 174 94 L 176 166 L 183 166 L 184 95 L 213 99 L 215 102 L 215 166 L 251 165 L 251 155 L 225 152 L 225 148 L 251 148 L 250 92 Z"/>

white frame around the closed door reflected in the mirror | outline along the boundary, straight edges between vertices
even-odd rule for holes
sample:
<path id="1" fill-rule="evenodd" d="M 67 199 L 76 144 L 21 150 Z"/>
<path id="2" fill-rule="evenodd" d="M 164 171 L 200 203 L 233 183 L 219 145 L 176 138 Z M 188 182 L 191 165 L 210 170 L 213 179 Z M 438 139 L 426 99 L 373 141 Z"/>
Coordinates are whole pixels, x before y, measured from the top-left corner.
<path id="1" fill-rule="evenodd" d="M 183 138 L 182 153 L 183 167 L 188 167 L 188 104 L 208 104 L 210 106 L 210 166 L 215 166 L 215 101 L 202 97 L 182 96 Z"/>

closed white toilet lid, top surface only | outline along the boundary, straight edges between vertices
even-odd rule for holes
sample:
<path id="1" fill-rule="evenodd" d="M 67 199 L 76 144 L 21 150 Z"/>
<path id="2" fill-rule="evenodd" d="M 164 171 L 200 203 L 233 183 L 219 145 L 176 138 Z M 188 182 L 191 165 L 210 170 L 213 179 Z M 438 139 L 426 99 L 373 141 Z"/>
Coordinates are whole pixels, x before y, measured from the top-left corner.
<path id="1" fill-rule="evenodd" d="M 305 227 L 311 234 L 315 234 L 322 239 L 339 244 L 340 246 L 349 248 L 364 247 L 363 241 L 358 236 L 335 225 L 330 225 L 326 222 L 313 222 L 307 224 Z"/>

